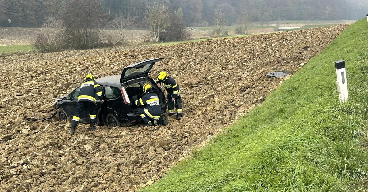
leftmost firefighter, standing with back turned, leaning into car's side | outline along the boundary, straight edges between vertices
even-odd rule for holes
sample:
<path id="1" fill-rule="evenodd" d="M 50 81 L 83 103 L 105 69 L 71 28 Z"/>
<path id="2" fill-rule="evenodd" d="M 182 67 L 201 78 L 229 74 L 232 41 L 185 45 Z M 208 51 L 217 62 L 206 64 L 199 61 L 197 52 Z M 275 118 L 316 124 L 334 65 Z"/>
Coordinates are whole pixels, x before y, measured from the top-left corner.
<path id="1" fill-rule="evenodd" d="M 88 74 L 85 77 L 85 82 L 81 84 L 81 91 L 79 92 L 77 100 L 77 111 L 71 121 L 71 135 L 74 135 L 75 127 L 77 127 L 84 109 L 87 109 L 89 112 L 89 125 L 91 126 L 91 131 L 96 130 L 96 95 L 101 100 L 102 104 L 103 97 L 101 87 L 95 81 L 95 77 L 93 77 L 92 74 Z"/>

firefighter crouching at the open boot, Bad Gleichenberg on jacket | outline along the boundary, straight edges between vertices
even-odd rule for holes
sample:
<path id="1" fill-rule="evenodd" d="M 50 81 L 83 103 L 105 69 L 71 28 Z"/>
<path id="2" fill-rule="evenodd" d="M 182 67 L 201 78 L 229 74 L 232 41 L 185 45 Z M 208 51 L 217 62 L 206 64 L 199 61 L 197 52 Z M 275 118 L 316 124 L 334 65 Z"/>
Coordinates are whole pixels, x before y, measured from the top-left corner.
<path id="1" fill-rule="evenodd" d="M 141 99 L 134 96 L 133 101 L 135 105 L 144 106 L 139 108 L 139 113 L 145 123 L 144 126 L 156 126 L 160 124 L 166 126 L 167 120 L 165 117 L 161 117 L 161 106 L 158 95 L 153 92 L 150 84 L 145 84 L 142 89 L 145 95 Z"/>

